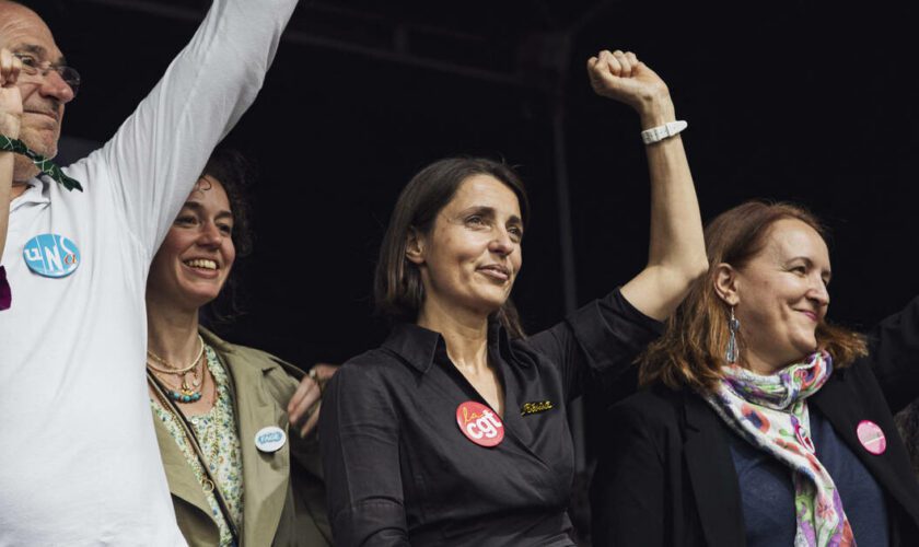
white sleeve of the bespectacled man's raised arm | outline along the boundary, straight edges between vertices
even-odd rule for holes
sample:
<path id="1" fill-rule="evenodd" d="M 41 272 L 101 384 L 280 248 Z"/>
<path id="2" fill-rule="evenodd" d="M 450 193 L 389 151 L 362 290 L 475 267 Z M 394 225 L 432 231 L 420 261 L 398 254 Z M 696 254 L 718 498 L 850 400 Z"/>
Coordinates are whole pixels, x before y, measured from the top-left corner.
<path id="1" fill-rule="evenodd" d="M 113 185 L 127 229 L 149 257 L 213 148 L 255 100 L 295 5 L 296 0 L 214 0 L 150 95 L 88 159 L 91 172 L 104 173 L 100 178 Z M 86 183 L 103 183 L 100 178 Z"/>

